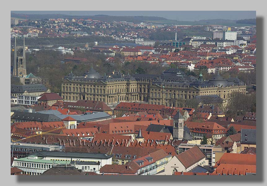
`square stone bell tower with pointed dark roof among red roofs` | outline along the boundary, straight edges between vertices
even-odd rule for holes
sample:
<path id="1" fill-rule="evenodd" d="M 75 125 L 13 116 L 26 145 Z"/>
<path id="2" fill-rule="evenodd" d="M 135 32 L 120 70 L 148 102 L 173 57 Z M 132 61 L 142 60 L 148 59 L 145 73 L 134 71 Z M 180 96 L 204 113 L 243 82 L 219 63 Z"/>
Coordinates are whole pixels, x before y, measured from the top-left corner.
<path id="1" fill-rule="evenodd" d="M 184 117 L 178 112 L 173 117 L 173 139 L 182 140 L 184 137 Z"/>

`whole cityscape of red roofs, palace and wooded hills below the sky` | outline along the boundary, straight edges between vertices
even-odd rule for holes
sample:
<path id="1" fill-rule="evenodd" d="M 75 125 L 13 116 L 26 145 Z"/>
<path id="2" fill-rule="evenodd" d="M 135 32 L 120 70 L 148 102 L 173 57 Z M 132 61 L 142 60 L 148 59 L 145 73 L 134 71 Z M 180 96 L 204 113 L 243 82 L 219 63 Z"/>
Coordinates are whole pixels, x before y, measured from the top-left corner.
<path id="1" fill-rule="evenodd" d="M 11 175 L 256 175 L 256 13 L 11 11 L 10 39 Z"/>

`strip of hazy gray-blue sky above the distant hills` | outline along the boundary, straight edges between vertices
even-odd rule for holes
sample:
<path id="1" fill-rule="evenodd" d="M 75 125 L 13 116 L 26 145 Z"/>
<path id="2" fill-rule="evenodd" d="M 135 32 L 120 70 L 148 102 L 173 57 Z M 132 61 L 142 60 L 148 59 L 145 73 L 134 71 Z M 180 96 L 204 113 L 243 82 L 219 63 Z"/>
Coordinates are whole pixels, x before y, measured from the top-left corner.
<path id="1" fill-rule="evenodd" d="M 22 14 L 66 14 L 66 15 L 125 15 L 158 16 L 179 21 L 198 21 L 204 19 L 252 19 L 256 11 L 11 11 Z"/>

